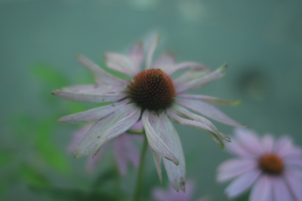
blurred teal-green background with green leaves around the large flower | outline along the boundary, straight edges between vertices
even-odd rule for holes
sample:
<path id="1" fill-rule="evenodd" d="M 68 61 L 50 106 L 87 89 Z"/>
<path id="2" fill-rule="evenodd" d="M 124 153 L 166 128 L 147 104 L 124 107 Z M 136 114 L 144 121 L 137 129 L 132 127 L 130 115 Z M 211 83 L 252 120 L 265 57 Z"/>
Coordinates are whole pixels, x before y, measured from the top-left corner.
<path id="1" fill-rule="evenodd" d="M 301 146 L 301 10 L 302 1 L 277 0 L 1 0 L 0 199 L 112 200 L 118 185 L 120 194 L 131 195 L 136 170 L 119 179 L 108 149 L 87 173 L 87 157 L 74 159 L 67 151 L 82 125 L 56 123 L 97 104 L 62 100 L 51 91 L 94 83 L 77 53 L 102 65 L 106 51 L 126 53 L 154 31 L 163 34 L 155 56 L 167 49 L 177 62 L 201 62 L 212 70 L 229 63 L 222 79 L 190 93 L 242 99 L 241 106 L 218 107 L 261 135 L 287 133 Z M 213 123 L 232 136 L 232 127 Z M 215 169 L 231 156 L 206 133 L 175 127 L 187 179 L 196 184 L 194 198 L 226 200 L 226 184 L 215 182 Z M 146 164 L 144 196 L 152 200 L 149 190 L 159 181 L 150 150 Z M 162 187 L 167 185 L 164 173 Z"/>

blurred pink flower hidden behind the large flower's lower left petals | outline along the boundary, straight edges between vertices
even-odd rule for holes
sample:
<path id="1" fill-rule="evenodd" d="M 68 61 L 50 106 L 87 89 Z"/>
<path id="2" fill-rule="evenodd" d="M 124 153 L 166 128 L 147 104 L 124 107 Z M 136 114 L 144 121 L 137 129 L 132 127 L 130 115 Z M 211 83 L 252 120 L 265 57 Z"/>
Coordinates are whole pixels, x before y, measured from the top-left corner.
<path id="1" fill-rule="evenodd" d="M 93 126 L 93 124 L 94 123 L 91 123 L 73 134 L 73 139 L 68 146 L 69 151 L 73 151 L 76 148 L 82 137 Z M 129 130 L 134 132 L 143 130 L 142 122 L 139 121 L 135 123 Z M 133 139 L 137 139 L 141 142 L 143 140 L 143 136 L 123 133 L 120 136 L 116 137 L 113 142 L 115 161 L 122 176 L 126 176 L 129 162 L 131 162 L 135 168 L 139 166 L 140 155 L 137 148 L 132 143 Z M 89 154 L 86 171 L 93 171 L 93 169 L 101 159 L 103 150 L 108 148 L 108 146 L 109 142 L 105 143 L 96 155 L 94 155 L 94 153 Z"/>

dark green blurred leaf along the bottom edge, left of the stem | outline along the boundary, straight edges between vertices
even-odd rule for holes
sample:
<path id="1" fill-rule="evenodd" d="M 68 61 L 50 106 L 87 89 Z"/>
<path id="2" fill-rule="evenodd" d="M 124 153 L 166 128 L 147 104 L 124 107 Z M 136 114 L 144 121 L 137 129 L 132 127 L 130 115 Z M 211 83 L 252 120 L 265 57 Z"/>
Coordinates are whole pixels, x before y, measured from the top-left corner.
<path id="1" fill-rule="evenodd" d="M 87 192 L 81 189 L 63 189 L 55 187 L 31 186 L 30 189 L 56 200 L 64 201 L 117 201 L 118 199 L 107 193 Z"/>

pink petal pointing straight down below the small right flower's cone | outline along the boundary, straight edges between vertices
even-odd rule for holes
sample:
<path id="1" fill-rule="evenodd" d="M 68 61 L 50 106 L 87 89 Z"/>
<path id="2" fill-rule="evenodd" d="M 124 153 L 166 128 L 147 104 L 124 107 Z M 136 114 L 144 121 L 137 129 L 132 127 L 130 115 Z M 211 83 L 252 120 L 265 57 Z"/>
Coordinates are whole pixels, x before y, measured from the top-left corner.
<path id="1" fill-rule="evenodd" d="M 272 181 L 268 175 L 259 177 L 251 193 L 249 194 L 250 201 L 273 201 Z"/>

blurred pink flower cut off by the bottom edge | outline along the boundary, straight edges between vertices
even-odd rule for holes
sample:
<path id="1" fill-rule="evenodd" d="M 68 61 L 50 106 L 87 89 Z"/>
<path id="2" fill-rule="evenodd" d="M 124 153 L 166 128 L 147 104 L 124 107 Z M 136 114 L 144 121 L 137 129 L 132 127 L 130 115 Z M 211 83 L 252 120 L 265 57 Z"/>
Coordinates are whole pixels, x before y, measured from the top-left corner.
<path id="1" fill-rule="evenodd" d="M 162 188 L 155 188 L 152 196 L 157 201 L 191 201 L 194 193 L 194 183 L 192 181 L 186 182 L 186 192 L 176 192 L 170 185 L 169 190 L 165 191 Z M 209 201 L 208 198 L 199 198 L 196 201 Z"/>

